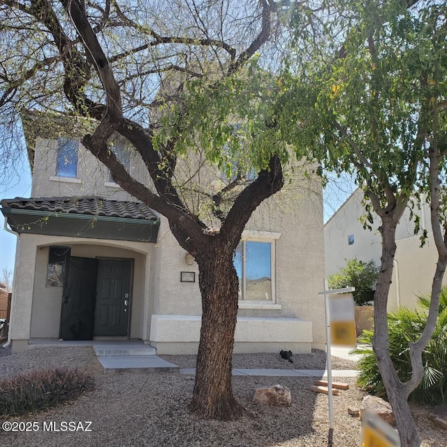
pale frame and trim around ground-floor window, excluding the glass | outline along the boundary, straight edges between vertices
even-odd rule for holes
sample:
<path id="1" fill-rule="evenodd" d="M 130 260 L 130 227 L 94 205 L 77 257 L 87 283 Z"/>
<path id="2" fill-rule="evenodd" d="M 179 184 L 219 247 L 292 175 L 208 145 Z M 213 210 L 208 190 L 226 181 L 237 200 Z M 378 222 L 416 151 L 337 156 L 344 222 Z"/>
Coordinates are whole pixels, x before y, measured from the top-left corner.
<path id="1" fill-rule="evenodd" d="M 239 298 L 238 304 L 240 308 L 256 307 L 261 308 L 263 306 L 271 308 L 277 306 L 277 286 L 276 286 L 276 241 L 281 236 L 281 233 L 275 233 L 272 231 L 260 231 L 260 230 L 244 230 L 240 242 L 242 242 L 242 290 L 241 298 Z M 247 258 L 246 242 L 265 242 L 270 244 L 270 282 L 271 282 L 271 298 L 269 300 L 247 300 L 244 298 L 247 295 L 246 292 L 246 264 Z"/>

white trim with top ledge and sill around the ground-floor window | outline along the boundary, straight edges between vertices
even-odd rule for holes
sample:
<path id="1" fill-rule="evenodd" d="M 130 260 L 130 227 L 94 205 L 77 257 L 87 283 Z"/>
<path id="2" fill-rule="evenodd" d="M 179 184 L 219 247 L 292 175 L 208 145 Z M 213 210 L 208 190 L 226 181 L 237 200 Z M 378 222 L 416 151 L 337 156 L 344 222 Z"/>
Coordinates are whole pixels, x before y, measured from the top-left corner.
<path id="1" fill-rule="evenodd" d="M 272 298 L 270 300 L 238 300 L 239 309 L 282 309 L 282 305 L 277 304 L 277 284 L 276 284 L 276 240 L 281 237 L 281 233 L 263 230 L 244 230 L 241 242 L 269 242 L 270 243 L 270 274 L 272 281 Z M 242 257 L 245 256 L 245 249 Z M 244 263 L 242 263 L 242 279 L 244 278 Z M 242 296 L 245 295 L 245 281 L 242 281 Z"/>

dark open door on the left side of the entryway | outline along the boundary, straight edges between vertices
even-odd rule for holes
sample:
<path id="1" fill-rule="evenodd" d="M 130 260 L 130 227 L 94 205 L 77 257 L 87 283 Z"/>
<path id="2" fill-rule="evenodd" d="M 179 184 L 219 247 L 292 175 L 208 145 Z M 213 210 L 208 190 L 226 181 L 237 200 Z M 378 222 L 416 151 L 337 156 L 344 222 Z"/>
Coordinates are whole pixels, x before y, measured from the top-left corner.
<path id="1" fill-rule="evenodd" d="M 59 337 L 93 339 L 98 261 L 71 256 L 66 261 Z"/>

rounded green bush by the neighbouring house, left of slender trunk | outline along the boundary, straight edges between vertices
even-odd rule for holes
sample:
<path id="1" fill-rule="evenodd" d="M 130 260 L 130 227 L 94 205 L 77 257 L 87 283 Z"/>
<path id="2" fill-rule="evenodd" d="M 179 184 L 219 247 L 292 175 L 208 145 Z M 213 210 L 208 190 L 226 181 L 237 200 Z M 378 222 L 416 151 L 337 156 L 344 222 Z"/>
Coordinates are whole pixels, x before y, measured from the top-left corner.
<path id="1" fill-rule="evenodd" d="M 353 292 L 354 302 L 358 306 L 364 306 L 373 300 L 372 290 L 379 277 L 379 267 L 374 261 L 358 261 L 357 258 L 345 259 L 346 266 L 339 273 L 331 274 L 328 279 L 329 288 L 355 287 Z"/>

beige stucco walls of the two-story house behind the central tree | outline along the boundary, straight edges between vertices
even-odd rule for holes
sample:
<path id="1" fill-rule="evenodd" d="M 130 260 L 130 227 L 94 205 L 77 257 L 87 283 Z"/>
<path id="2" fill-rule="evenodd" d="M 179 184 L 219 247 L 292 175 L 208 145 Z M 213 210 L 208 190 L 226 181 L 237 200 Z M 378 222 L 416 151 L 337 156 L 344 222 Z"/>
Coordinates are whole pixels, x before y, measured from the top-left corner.
<path id="1" fill-rule="evenodd" d="M 78 161 L 78 179 L 55 178 L 56 148 L 56 140 L 37 139 L 32 196 L 98 194 L 117 200 L 132 200 L 124 191 L 107 186 L 107 170 L 94 156 L 82 150 L 82 147 Z M 131 173 L 138 179 L 148 182 L 147 179 L 144 180 L 142 173 L 138 173 L 138 159 L 133 159 L 131 165 Z M 311 346 L 322 348 L 325 342 L 324 321 L 321 318 L 324 307 L 323 299 L 318 296 L 318 291 L 321 291 L 323 287 L 324 277 L 321 184 L 318 179 L 312 179 L 312 177 L 309 179 L 302 175 L 299 169 L 295 170 L 288 180 L 290 182 L 286 182 L 282 191 L 269 200 L 265 200 L 258 207 L 246 226 L 247 232 L 251 235 L 255 230 L 279 234 L 279 237 L 274 240 L 272 271 L 275 274 L 275 300 L 258 303 L 241 302 L 238 316 L 239 318 L 261 318 L 258 321 L 263 321 L 263 319 L 269 321 L 274 318 L 292 318 L 294 321 L 302 321 L 301 327 L 307 328 L 306 339 L 302 340 L 302 346 L 305 346 L 303 349 L 309 350 Z M 216 181 L 219 182 L 219 179 Z M 41 247 L 50 244 L 72 245 L 73 256 L 135 258 L 134 293 L 136 295 L 132 309 L 132 337 L 149 339 L 151 316 L 154 314 L 200 318 L 198 266 L 195 262 L 193 265 L 186 263 L 186 251 L 179 247 L 164 217 L 161 217 L 157 244 L 38 235 L 22 235 L 21 242 L 27 245 L 26 250 L 31 253 L 29 261 L 22 261 L 24 263 L 22 270 L 31 269 L 31 265 L 34 269 L 36 261 L 38 267 L 36 281 L 34 281 L 34 274 L 31 275 L 29 284 L 22 284 L 20 287 L 23 290 L 17 295 L 17 304 L 23 307 L 20 312 L 25 318 L 20 321 L 17 319 L 17 328 L 14 329 L 16 339 L 27 339 L 30 335 L 31 337 L 57 337 L 59 332 L 61 291 L 47 291 L 44 281 L 47 247 Z M 104 247 L 105 245 L 113 245 L 117 249 Z M 130 252 L 127 253 L 124 249 L 129 249 Z M 181 282 L 180 272 L 182 271 L 195 272 L 196 282 Z M 143 292 L 140 294 L 140 291 Z M 32 309 L 31 323 L 33 293 L 36 299 Z M 142 298 L 138 298 L 140 296 Z M 54 305 L 58 300 L 59 303 Z M 51 312 L 45 312 L 47 307 L 52 307 Z M 274 324 L 280 323 L 281 320 L 274 321 Z M 173 326 L 172 329 L 175 330 L 175 327 Z M 263 331 L 258 330 L 258 332 Z M 275 332 L 277 331 L 269 330 L 265 334 L 270 334 L 274 338 Z M 151 340 L 154 343 L 161 341 Z M 260 339 L 261 342 L 265 342 L 264 338 Z M 272 349 L 276 350 L 278 346 L 274 344 L 273 339 L 271 342 Z M 260 349 L 255 344 L 252 346 L 253 349 Z M 291 345 L 293 349 L 296 346 Z"/>

